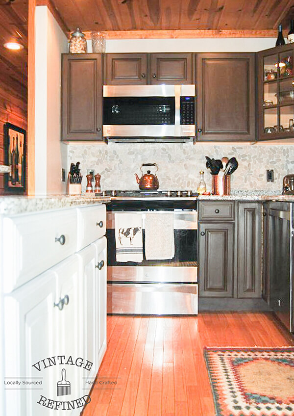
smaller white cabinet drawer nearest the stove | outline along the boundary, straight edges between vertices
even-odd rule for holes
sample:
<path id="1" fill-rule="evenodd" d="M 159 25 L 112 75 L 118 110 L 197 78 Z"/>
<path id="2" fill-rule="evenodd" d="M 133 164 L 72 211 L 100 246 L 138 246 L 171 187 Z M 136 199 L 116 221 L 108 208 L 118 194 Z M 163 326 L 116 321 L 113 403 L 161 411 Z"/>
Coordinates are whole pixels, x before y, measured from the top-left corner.
<path id="1" fill-rule="evenodd" d="M 77 247 L 79 251 L 106 232 L 106 206 L 77 208 Z"/>

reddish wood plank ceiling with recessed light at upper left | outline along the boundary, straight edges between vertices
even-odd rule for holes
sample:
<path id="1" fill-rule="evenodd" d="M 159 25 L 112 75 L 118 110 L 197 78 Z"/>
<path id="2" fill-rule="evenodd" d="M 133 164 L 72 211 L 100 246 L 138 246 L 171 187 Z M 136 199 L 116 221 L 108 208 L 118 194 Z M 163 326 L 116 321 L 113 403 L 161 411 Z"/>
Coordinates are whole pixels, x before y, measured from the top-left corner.
<path id="1" fill-rule="evenodd" d="M 26 97 L 28 0 L 0 0 L 0 82 Z M 11 39 L 24 45 L 21 51 L 3 47 Z"/>

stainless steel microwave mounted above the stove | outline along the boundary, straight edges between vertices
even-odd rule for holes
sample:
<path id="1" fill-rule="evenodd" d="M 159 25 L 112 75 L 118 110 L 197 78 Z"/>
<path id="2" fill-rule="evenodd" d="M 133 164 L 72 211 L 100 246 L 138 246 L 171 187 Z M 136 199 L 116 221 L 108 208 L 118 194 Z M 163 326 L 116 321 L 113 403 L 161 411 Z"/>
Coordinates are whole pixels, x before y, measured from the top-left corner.
<path id="1" fill-rule="evenodd" d="M 115 142 L 195 137 L 195 85 L 104 85 L 103 136 Z"/>

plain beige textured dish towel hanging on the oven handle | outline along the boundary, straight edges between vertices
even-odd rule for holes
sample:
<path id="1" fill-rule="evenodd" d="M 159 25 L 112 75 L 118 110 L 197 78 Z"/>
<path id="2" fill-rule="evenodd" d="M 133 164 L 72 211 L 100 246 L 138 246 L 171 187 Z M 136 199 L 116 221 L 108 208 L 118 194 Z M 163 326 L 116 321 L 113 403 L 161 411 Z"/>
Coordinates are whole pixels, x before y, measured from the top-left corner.
<path id="1" fill-rule="evenodd" d="M 174 257 L 173 212 L 148 212 L 145 220 L 146 260 Z"/>

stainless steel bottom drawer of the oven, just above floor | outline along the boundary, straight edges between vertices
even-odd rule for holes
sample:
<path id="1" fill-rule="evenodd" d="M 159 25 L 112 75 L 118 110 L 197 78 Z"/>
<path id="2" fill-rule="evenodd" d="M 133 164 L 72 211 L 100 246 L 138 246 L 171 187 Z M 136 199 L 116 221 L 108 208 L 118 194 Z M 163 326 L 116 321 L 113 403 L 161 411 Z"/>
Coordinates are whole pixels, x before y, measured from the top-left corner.
<path id="1" fill-rule="evenodd" d="M 196 315 L 198 285 L 108 283 L 107 313 Z"/>

